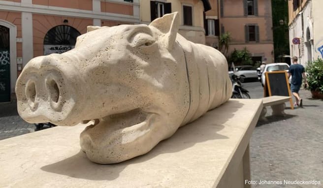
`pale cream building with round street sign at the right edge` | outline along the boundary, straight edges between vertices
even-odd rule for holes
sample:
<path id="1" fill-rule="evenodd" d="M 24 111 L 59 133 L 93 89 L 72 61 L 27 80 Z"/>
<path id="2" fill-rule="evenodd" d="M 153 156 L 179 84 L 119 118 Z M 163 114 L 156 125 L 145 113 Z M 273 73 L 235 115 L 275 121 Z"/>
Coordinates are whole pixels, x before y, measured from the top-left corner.
<path id="1" fill-rule="evenodd" d="M 289 1 L 289 32 L 291 56 L 299 63 L 323 58 L 322 0 Z"/>

